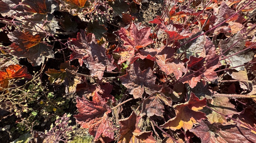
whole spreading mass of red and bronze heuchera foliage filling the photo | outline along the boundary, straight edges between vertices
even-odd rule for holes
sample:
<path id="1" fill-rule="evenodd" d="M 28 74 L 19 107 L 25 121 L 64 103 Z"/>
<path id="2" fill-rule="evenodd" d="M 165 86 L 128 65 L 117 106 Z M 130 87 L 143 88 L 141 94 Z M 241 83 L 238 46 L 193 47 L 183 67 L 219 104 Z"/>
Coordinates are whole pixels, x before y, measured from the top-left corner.
<path id="1" fill-rule="evenodd" d="M 0 0 L 1 63 L 46 67 L 95 142 L 256 142 L 256 1 L 164 0 L 150 27 L 130 15 L 141 2 Z M 1 66 L 1 92 L 32 79 L 21 64 Z"/>

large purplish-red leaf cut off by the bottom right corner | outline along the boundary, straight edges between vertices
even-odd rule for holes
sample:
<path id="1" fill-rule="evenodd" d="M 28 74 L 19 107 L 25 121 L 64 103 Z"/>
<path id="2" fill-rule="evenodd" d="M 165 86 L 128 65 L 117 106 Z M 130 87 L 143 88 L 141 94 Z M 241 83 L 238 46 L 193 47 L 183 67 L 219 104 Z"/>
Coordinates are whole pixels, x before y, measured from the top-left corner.
<path id="1" fill-rule="evenodd" d="M 256 135 L 237 125 L 210 124 L 202 120 L 201 124 L 191 129 L 202 143 L 255 142 Z"/>

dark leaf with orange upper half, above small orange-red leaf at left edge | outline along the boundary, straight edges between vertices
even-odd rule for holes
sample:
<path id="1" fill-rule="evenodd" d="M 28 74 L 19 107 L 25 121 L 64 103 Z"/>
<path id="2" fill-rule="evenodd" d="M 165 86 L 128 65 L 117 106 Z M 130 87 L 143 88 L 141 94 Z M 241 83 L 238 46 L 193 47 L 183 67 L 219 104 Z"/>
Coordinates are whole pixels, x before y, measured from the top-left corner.
<path id="1" fill-rule="evenodd" d="M 46 57 L 54 58 L 53 46 L 44 42 L 46 35 L 32 34 L 29 31 L 14 30 L 8 34 L 11 44 L 11 52 L 19 58 L 26 57 L 33 66 L 40 65 Z"/>

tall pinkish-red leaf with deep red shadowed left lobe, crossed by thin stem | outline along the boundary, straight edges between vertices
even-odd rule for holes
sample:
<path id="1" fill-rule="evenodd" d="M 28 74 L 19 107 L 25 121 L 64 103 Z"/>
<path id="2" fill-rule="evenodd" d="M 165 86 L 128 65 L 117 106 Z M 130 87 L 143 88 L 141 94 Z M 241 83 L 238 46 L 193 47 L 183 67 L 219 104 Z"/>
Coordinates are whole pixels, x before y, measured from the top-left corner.
<path id="1" fill-rule="evenodd" d="M 190 72 L 187 72 L 183 76 L 184 78 L 180 80 L 183 83 L 189 83 L 191 88 L 194 88 L 201 79 L 203 79 L 203 85 L 206 85 L 206 81 L 213 81 L 218 78 L 217 73 L 214 70 L 219 68 L 221 63 L 219 60 L 214 60 L 218 56 L 216 55 L 215 46 L 206 38 L 204 48 L 205 58 L 190 56 L 189 61 L 187 62 L 187 71 Z M 207 66 L 201 69 L 206 64 Z M 198 70 L 200 70 L 200 72 Z M 197 73 L 192 77 L 189 76 L 193 71 L 197 71 Z"/>

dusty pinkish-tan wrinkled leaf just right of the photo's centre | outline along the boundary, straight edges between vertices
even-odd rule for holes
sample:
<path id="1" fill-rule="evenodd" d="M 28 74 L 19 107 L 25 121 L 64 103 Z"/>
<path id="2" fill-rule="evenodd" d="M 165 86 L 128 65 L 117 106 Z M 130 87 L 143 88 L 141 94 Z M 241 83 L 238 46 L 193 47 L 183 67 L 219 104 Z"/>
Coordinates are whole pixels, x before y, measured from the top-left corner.
<path id="1" fill-rule="evenodd" d="M 165 47 L 160 53 L 155 55 L 157 64 L 160 69 L 167 75 L 173 73 L 176 79 L 182 76 L 182 72 L 186 71 L 184 63 L 174 57 L 174 49 L 171 47 Z"/>

